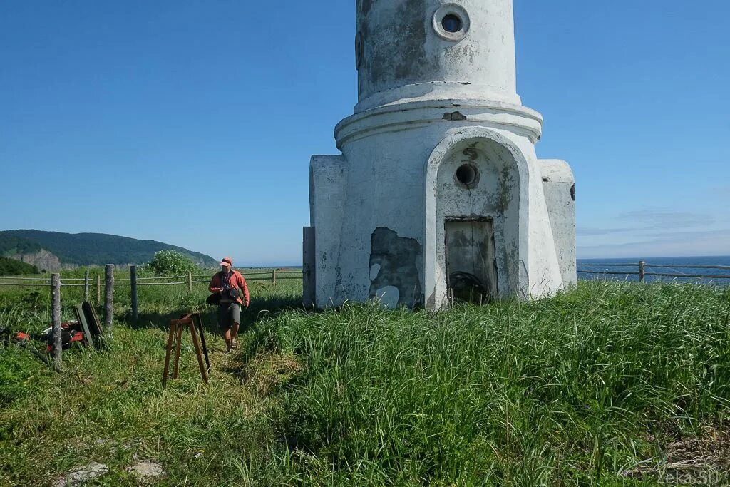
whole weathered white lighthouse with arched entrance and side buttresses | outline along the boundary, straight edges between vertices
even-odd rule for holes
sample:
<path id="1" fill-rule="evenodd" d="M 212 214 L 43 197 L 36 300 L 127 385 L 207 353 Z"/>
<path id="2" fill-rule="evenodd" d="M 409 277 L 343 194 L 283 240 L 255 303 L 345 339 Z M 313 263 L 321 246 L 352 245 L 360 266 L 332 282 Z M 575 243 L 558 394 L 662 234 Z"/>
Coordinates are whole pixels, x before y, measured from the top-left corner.
<path id="1" fill-rule="evenodd" d="M 358 104 L 313 156 L 304 298 L 438 309 L 574 285 L 575 185 L 516 88 L 512 0 L 357 0 Z"/>

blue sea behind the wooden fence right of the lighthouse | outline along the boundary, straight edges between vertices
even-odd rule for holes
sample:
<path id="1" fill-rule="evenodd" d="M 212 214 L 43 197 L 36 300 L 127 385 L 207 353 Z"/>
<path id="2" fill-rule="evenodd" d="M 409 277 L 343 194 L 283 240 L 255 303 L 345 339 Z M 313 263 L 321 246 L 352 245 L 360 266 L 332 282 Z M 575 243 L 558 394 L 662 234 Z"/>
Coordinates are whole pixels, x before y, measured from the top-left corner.
<path id="1" fill-rule="evenodd" d="M 730 267 L 730 256 L 718 257 L 655 257 L 655 258 L 579 258 L 578 279 L 611 279 L 611 280 L 629 280 L 638 281 L 638 275 L 608 275 L 608 274 L 586 274 L 581 271 L 592 272 L 639 272 L 639 261 L 646 262 L 646 272 L 656 274 L 678 274 L 678 275 L 710 275 L 710 276 L 726 276 L 730 277 L 730 269 L 693 269 L 686 266 L 727 266 Z M 607 266 L 586 266 L 581 264 L 611 264 Z M 621 265 L 626 264 L 626 265 Z M 652 267 L 669 266 L 669 267 Z M 680 283 L 703 283 L 730 285 L 730 279 L 722 279 L 719 277 L 666 277 L 647 275 L 648 283 L 661 282 L 680 282 Z"/>

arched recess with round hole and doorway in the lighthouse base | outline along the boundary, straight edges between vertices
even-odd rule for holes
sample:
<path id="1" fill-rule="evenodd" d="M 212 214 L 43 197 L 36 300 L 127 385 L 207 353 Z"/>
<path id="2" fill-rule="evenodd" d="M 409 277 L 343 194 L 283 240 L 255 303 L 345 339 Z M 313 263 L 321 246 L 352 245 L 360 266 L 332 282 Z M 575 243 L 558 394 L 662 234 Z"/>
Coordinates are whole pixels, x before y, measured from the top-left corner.
<path id="1" fill-rule="evenodd" d="M 520 150 L 496 131 L 467 127 L 434 150 L 426 180 L 426 304 L 521 295 L 528 171 Z"/>

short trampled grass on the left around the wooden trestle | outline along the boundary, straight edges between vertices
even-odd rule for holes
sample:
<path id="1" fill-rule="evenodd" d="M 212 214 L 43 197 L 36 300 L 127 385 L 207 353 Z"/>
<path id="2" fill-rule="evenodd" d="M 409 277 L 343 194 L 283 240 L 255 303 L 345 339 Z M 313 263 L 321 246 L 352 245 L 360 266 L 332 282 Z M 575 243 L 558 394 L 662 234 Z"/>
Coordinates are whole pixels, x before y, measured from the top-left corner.
<path id="1" fill-rule="evenodd" d="M 276 288 L 252 281 L 250 289 L 254 302 L 243 315 L 249 327 L 259 316 L 301 302 L 296 280 L 280 281 Z M 33 291 L 0 291 L 0 328 L 50 326 L 50 290 Z M 48 485 L 91 461 L 110 467 L 101 485 L 136 485 L 126 467 L 137 458 L 160 461 L 164 483 L 226 485 L 225 479 L 239 478 L 244 459 L 266 455 L 265 445 L 275 436 L 266 413 L 273 400 L 242 380 L 256 375 L 271 383 L 276 377 L 269 379 L 269 361 L 243 367 L 222 353 L 215 308 L 204 304 L 207 294 L 205 284 L 192 294 L 185 286 L 140 288 L 140 317 L 133 323 L 128 291 L 118 288 L 108 350 L 66 350 L 62 374 L 5 340 L 0 345 L 0 486 Z M 75 319 L 72 306 L 80 299 L 80 288 L 63 289 L 64 320 Z M 184 336 L 180 379 L 163 390 L 166 327 L 179 313 L 194 310 L 203 311 L 207 329 L 210 386 L 201 383 L 190 337 Z M 253 337 L 253 331 L 242 337 L 242 345 Z M 35 346 L 43 349 L 42 343 Z"/>

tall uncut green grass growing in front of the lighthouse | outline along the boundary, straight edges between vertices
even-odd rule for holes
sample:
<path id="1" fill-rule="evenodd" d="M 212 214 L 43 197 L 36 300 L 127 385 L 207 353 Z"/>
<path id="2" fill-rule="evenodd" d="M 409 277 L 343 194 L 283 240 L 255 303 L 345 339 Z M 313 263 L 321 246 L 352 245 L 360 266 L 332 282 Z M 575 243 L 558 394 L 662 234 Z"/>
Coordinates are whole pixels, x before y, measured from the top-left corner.
<path id="1" fill-rule="evenodd" d="M 726 290 L 609 283 L 436 314 L 289 313 L 269 333 L 304 359 L 283 392 L 296 471 L 524 486 L 660 471 L 650 438 L 726 421 L 729 314 Z"/>

